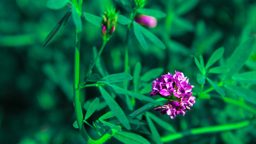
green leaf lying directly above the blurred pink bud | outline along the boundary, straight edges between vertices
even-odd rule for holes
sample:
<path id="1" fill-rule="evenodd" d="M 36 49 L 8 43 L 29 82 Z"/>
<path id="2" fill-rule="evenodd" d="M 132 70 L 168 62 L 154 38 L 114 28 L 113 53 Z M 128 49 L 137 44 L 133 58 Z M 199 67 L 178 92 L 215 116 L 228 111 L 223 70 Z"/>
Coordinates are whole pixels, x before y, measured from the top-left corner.
<path id="1" fill-rule="evenodd" d="M 147 16 L 155 17 L 155 18 L 166 17 L 166 13 L 164 13 L 160 10 L 154 10 L 154 9 L 150 9 L 150 8 L 140 8 L 140 9 L 138 9 L 138 12 L 141 14 L 145 14 Z"/>

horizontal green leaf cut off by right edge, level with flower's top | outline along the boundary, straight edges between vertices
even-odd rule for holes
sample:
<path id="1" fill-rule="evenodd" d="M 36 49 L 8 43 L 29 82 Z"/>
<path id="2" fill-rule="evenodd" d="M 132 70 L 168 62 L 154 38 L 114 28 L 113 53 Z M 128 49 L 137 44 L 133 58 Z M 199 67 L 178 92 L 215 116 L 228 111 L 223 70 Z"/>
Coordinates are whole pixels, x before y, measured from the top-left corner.
<path id="1" fill-rule="evenodd" d="M 242 74 L 235 74 L 232 77 L 232 79 L 238 82 L 247 82 L 251 84 L 256 84 L 256 71 L 244 72 Z"/>

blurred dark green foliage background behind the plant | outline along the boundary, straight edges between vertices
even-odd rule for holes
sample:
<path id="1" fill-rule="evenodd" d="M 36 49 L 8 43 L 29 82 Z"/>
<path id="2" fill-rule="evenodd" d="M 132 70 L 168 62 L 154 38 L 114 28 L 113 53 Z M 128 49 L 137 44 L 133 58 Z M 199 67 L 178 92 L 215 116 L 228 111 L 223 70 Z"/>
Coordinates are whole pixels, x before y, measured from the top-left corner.
<path id="1" fill-rule="evenodd" d="M 224 58 L 256 31 L 256 2 L 254 0 L 148 0 L 146 8 L 161 10 L 166 18 L 158 20 L 150 31 L 160 38 L 166 49 L 158 48 L 148 39 L 144 50 L 134 34 L 129 44 L 131 75 L 136 62 L 142 63 L 142 74 L 152 68 L 162 67 L 164 73 L 183 72 L 190 78 L 194 91 L 200 90 L 196 82 L 198 69 L 190 54 L 203 55 L 205 61 L 217 48 L 224 46 Z M 179 12 L 177 8 L 191 5 Z M 83 11 L 101 16 L 106 6 L 113 5 L 124 16 L 129 11 L 114 0 L 84 0 Z M 74 24 L 70 16 L 56 38 L 46 48 L 42 47 L 47 34 L 69 10 L 46 8 L 46 0 L 0 1 L 0 143 L 1 144 L 82 144 L 80 133 L 73 128 L 75 121 L 73 96 Z M 123 72 L 126 26 L 118 24 L 114 36 L 107 43 L 102 59 L 110 74 Z M 83 19 L 81 35 L 80 77 L 84 78 L 92 58 L 92 47 L 102 45 L 101 30 Z M 226 59 L 220 62 L 224 63 Z M 246 62 L 245 70 L 256 70 L 256 50 Z M 97 73 L 97 70 L 94 69 Z M 215 75 L 212 75 L 214 80 Z M 206 88 L 209 87 L 206 84 Z M 254 86 L 255 87 L 255 86 Z M 150 92 L 151 89 L 148 90 Z M 213 94 L 216 94 L 213 92 Z M 145 94 L 149 96 L 149 94 Z M 230 94 L 232 96 L 232 94 Z M 81 91 L 81 101 L 100 97 L 97 88 Z M 101 99 L 102 100 L 102 99 Z M 117 99 L 120 106 L 124 103 Z M 138 102 L 136 108 L 141 103 Z M 127 110 L 125 106 L 122 106 Z M 255 108 L 253 105 L 252 108 Z M 236 110 L 236 112 L 233 112 Z M 108 112 L 96 112 L 89 123 Z M 128 110 L 127 110 L 128 111 Z M 186 112 L 171 120 L 176 131 L 190 128 L 226 124 L 246 117 L 246 112 L 218 100 L 199 100 Z M 231 112 L 231 113 L 230 113 Z M 128 112 L 129 113 L 129 112 Z M 86 127 L 92 138 L 96 132 Z M 145 129 L 148 129 L 145 126 Z M 168 132 L 160 131 L 160 135 Z M 146 136 L 150 137 L 150 136 Z M 176 140 L 185 143 L 255 143 L 255 125 L 240 130 L 188 136 Z M 107 143 L 114 142 L 111 138 Z M 173 143 L 174 143 L 173 142 Z"/>

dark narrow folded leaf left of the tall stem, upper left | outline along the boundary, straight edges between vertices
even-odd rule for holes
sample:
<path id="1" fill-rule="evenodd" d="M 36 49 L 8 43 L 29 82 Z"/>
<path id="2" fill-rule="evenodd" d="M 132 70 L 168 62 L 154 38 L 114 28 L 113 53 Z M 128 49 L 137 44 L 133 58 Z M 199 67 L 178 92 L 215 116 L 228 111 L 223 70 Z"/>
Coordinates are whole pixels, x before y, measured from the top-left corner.
<path id="1" fill-rule="evenodd" d="M 60 28 L 62 28 L 63 25 L 65 25 L 66 21 L 68 20 L 69 16 L 70 16 L 71 12 L 68 11 L 63 18 L 58 22 L 58 24 L 52 29 L 52 31 L 46 36 L 45 40 L 44 40 L 44 44 L 43 47 L 46 47 L 54 38 L 55 36 L 58 34 L 58 32 L 60 31 Z"/>

